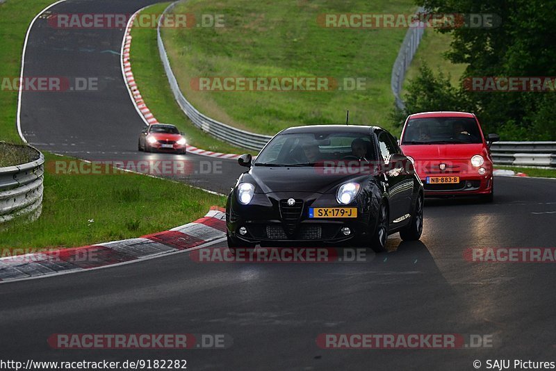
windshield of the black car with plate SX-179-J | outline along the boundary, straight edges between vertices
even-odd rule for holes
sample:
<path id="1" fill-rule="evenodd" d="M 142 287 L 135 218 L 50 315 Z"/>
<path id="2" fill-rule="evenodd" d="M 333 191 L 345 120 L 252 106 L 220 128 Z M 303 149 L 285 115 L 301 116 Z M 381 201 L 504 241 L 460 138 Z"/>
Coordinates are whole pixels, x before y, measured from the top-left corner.
<path id="1" fill-rule="evenodd" d="M 261 151 L 255 166 L 319 166 L 329 160 L 375 160 L 370 135 L 359 133 L 284 133 Z"/>

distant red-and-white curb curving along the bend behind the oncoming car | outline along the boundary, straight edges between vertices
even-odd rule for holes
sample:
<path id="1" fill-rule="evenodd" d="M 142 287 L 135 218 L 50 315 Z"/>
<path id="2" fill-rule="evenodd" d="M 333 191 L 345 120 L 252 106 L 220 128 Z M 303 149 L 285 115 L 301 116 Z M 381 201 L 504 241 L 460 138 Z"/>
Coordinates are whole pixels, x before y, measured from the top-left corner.
<path id="1" fill-rule="evenodd" d="M 145 100 L 141 96 L 141 92 L 137 87 L 137 83 L 135 81 L 135 78 L 133 77 L 133 72 L 131 71 L 131 27 L 133 26 L 133 20 L 135 20 L 136 16 L 138 15 L 138 13 L 140 13 L 141 10 L 142 9 L 134 13 L 127 22 L 126 31 L 124 33 L 124 40 L 122 42 L 122 74 L 124 76 L 124 81 L 126 81 L 127 89 L 129 90 L 129 96 L 131 97 L 131 101 L 133 102 L 133 105 L 135 106 L 137 112 L 139 113 L 145 124 L 152 125 L 159 124 L 159 122 L 156 117 L 154 117 L 151 110 L 149 110 L 149 107 L 147 107 L 147 104 L 145 103 Z M 238 154 L 222 154 L 220 152 L 206 151 L 205 149 L 193 147 L 192 145 L 187 145 L 187 151 L 191 154 L 217 158 L 229 158 L 232 160 L 235 160 L 240 156 Z"/>

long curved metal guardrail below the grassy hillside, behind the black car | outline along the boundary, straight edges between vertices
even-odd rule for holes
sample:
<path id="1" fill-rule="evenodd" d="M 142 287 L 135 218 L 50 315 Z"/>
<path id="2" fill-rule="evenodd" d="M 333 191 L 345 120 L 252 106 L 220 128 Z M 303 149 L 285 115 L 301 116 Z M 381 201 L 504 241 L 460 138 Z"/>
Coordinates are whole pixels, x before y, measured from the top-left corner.
<path id="1" fill-rule="evenodd" d="M 167 12 L 171 11 L 178 2 L 179 1 L 176 1 L 170 4 L 170 6 L 168 6 L 164 10 L 163 17 Z M 181 110 L 183 110 L 183 113 L 185 113 L 191 119 L 195 126 L 197 126 L 202 131 L 213 135 L 214 137 L 238 147 L 255 149 L 259 151 L 266 145 L 266 143 L 270 140 L 270 138 L 272 138 L 272 136 L 250 133 L 249 131 L 237 129 L 227 124 L 222 124 L 222 122 L 218 122 L 215 119 L 211 119 L 211 117 L 200 113 L 199 110 L 197 110 L 195 107 L 193 107 L 192 104 L 189 103 L 186 97 L 183 97 L 176 76 L 174 76 L 172 67 L 170 67 L 170 60 L 168 60 L 164 42 L 161 38 L 161 23 L 163 22 L 163 17 L 161 17 L 158 22 L 158 52 L 161 55 L 162 64 L 164 65 L 166 76 L 168 78 L 168 82 L 170 83 L 170 88 L 172 88 L 172 92 L 174 93 L 174 98 L 179 104 Z"/>

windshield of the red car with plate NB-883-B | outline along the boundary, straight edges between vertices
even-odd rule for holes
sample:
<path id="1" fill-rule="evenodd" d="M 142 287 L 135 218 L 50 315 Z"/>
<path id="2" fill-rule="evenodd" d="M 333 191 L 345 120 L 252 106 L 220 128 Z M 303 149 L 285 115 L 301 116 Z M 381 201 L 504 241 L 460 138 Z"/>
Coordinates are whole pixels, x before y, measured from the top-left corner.
<path id="1" fill-rule="evenodd" d="M 471 117 L 409 119 L 402 145 L 482 143 L 477 121 Z"/>

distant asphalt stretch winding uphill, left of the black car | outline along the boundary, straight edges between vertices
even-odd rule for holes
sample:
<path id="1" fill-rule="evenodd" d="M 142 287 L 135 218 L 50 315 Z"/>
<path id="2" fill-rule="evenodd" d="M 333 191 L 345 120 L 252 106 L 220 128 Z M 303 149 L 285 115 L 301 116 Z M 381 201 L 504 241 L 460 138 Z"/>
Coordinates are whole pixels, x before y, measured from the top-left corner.
<path id="1" fill-rule="evenodd" d="M 133 14 L 156 2 L 70 0 L 48 12 Z M 227 194 L 242 172 L 236 160 L 137 151 L 145 123 L 122 76 L 123 37 L 123 28 L 54 28 L 46 17 L 37 19 L 29 33 L 24 76 L 66 76 L 70 81 L 92 78 L 98 86 L 83 91 L 77 87 L 63 92 L 24 91 L 21 123 L 26 140 L 38 149 L 93 161 L 190 161 L 190 174 L 165 176 Z"/>

